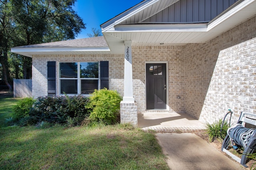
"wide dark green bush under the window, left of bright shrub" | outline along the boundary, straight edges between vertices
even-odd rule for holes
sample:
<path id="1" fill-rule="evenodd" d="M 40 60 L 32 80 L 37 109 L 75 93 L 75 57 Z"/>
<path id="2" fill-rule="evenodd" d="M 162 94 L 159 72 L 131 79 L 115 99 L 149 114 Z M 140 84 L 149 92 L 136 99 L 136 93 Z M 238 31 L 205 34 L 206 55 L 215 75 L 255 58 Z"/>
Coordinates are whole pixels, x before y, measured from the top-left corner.
<path id="1" fill-rule="evenodd" d="M 38 122 L 65 123 L 68 117 L 82 121 L 89 116 L 85 106 L 88 98 L 79 96 L 39 97 L 29 115 L 36 117 Z"/>

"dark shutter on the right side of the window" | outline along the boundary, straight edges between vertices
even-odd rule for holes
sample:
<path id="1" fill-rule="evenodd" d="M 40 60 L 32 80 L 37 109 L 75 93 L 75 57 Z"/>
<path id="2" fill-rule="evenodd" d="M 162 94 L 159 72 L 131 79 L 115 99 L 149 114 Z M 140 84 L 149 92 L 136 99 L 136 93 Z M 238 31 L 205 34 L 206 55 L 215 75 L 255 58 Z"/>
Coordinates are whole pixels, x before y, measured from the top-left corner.
<path id="1" fill-rule="evenodd" d="M 100 89 L 108 89 L 108 61 L 100 61 Z"/>

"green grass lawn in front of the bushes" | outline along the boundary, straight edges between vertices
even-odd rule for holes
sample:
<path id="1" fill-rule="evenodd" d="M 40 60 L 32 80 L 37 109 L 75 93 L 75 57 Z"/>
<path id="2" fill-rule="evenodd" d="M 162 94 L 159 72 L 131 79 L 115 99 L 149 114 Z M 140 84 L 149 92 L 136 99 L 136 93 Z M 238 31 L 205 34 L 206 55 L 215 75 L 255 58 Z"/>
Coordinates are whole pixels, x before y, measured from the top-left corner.
<path id="1" fill-rule="evenodd" d="M 130 125 L 6 127 L 16 101 L 0 98 L 0 169 L 169 169 L 154 133 Z"/>

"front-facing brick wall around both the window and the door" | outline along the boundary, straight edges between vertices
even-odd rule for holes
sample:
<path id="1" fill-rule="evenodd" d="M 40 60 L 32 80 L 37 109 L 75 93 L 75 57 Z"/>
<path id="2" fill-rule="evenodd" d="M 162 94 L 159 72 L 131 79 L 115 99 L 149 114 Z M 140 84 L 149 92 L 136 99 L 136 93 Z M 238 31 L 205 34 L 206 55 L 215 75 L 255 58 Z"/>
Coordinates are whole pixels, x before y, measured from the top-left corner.
<path id="1" fill-rule="evenodd" d="M 168 62 L 168 100 L 170 111 L 185 112 L 184 66 L 182 46 L 132 47 L 133 91 L 138 111 L 146 109 L 146 62 Z M 123 55 L 37 55 L 33 57 L 33 96 L 47 96 L 47 61 L 56 61 L 56 91 L 58 90 L 58 63 L 81 61 L 109 61 L 109 88 L 124 95 Z M 180 99 L 177 96 L 181 96 Z"/>

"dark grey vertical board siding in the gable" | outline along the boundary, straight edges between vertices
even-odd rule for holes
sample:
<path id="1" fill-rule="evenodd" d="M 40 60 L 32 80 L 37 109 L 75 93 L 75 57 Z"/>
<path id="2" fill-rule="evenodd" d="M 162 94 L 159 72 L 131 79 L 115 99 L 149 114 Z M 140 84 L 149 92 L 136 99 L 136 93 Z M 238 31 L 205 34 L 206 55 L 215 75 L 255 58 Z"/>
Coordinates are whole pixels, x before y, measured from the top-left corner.
<path id="1" fill-rule="evenodd" d="M 142 22 L 208 22 L 238 0 L 180 0 Z"/>

